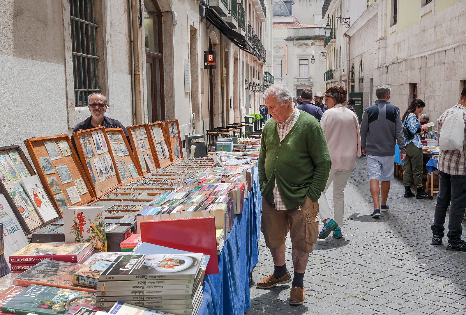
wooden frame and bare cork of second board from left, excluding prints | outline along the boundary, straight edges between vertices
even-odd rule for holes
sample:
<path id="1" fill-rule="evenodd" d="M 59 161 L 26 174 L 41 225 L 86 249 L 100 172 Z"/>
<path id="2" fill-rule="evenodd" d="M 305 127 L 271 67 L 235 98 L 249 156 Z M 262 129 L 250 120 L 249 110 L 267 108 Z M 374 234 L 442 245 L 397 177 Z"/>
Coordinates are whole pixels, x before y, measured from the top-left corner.
<path id="1" fill-rule="evenodd" d="M 60 166 L 61 164 L 64 164 L 67 166 L 69 173 L 71 175 L 71 180 L 70 182 L 63 183 L 62 179 L 59 176 L 58 171 L 54 172 L 53 174 L 45 174 L 44 170 L 41 167 L 40 158 L 48 158 L 49 154 L 47 151 L 47 148 L 45 147 L 46 142 L 55 142 L 58 143 L 59 141 L 66 141 L 70 150 L 70 154 L 67 156 L 62 156 L 61 158 L 57 160 L 50 160 L 50 162 L 53 165 L 54 170 L 56 170 L 56 166 Z M 41 137 L 41 138 L 30 138 L 24 141 L 26 144 L 27 152 L 29 152 L 29 155 L 31 156 L 31 160 L 34 164 L 35 169 L 37 170 L 37 175 L 39 176 L 42 185 L 45 188 L 45 191 L 48 193 L 48 195 L 55 196 L 52 188 L 47 180 L 49 177 L 55 176 L 55 178 L 58 180 L 61 193 L 63 194 L 66 205 L 71 207 L 71 206 L 82 206 L 90 201 L 96 199 L 96 195 L 94 194 L 94 191 L 92 190 L 92 187 L 89 184 L 88 176 L 87 174 L 89 172 L 84 172 L 81 162 L 79 161 L 79 157 L 75 151 L 75 148 L 73 147 L 71 143 L 71 139 L 69 138 L 68 134 L 59 134 L 55 136 L 48 136 L 48 137 Z M 79 143 L 79 139 L 78 139 Z M 60 150 L 61 152 L 61 150 Z M 71 203 L 69 199 L 69 195 L 66 192 L 66 188 L 70 188 L 72 186 L 75 186 L 76 180 L 79 180 L 82 178 L 84 181 L 84 184 L 87 188 L 87 192 L 80 195 L 81 201 L 78 201 L 76 203 Z M 58 194 L 57 194 L 58 195 Z M 59 209 L 60 214 L 62 213 L 62 210 L 60 210 L 60 207 L 57 203 L 57 201 L 54 198 L 51 198 L 52 203 L 55 203 L 55 206 L 57 209 Z"/>

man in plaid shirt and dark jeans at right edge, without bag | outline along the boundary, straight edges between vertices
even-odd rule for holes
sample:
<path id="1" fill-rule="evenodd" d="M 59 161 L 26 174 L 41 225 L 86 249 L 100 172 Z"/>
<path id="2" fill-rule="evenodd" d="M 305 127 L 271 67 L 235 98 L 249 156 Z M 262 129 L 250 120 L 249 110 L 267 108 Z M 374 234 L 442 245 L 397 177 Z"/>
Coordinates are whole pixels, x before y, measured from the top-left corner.
<path id="1" fill-rule="evenodd" d="M 447 109 L 437 120 L 439 134 L 445 119 L 459 110 L 463 111 L 466 125 L 466 87 L 463 88 L 458 103 Z M 466 252 L 466 242 L 461 240 L 463 232 L 461 221 L 466 208 L 466 137 L 463 140 L 463 147 L 462 151 L 440 151 L 439 154 L 437 168 L 439 169 L 440 188 L 435 206 L 434 222 L 432 223 L 432 244 L 440 245 L 442 243 L 446 210 L 451 205 L 446 249 Z"/>

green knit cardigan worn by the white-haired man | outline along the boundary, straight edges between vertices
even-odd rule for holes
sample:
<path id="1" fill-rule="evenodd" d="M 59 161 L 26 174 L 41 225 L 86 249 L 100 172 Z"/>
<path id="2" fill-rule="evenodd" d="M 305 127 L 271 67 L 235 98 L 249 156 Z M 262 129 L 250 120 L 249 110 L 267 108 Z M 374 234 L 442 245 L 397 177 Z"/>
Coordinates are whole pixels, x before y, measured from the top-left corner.
<path id="1" fill-rule="evenodd" d="M 332 164 L 319 121 L 302 110 L 299 112 L 298 120 L 281 142 L 277 123 L 269 119 L 263 127 L 260 145 L 260 192 L 271 204 L 276 181 L 287 209 L 304 204 L 306 196 L 318 201 Z"/>

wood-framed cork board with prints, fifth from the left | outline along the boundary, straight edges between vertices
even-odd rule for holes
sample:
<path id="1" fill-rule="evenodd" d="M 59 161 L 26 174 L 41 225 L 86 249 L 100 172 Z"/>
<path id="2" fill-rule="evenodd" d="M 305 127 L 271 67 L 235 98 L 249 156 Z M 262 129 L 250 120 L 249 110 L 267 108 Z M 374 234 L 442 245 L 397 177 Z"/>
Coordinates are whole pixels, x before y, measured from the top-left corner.
<path id="1" fill-rule="evenodd" d="M 159 168 L 158 161 L 155 160 L 155 149 L 149 138 L 149 126 L 147 124 L 139 124 L 129 126 L 127 129 L 130 134 L 131 146 L 133 147 L 134 158 L 140 174 L 144 176 Z"/>

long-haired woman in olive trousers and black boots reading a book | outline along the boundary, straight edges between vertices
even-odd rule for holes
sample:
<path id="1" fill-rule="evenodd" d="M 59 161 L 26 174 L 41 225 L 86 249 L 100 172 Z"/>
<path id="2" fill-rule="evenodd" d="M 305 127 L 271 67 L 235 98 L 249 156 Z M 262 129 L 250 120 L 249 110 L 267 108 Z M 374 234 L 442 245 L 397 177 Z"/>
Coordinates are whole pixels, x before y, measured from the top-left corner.
<path id="1" fill-rule="evenodd" d="M 404 159 L 404 172 L 403 172 L 403 185 L 405 188 L 404 197 L 414 197 L 411 191 L 411 174 L 414 178 L 414 185 L 418 188 L 416 194 L 417 199 L 432 199 L 425 193 L 422 187 L 422 173 L 424 171 L 423 166 L 423 154 L 422 154 L 422 142 L 419 137 L 420 132 L 426 132 L 429 127 L 421 127 L 421 122 L 418 120 L 418 115 L 424 110 L 425 103 L 420 99 L 414 98 L 411 101 L 410 106 L 403 114 L 403 125 L 408 127 L 409 132 L 413 136 L 412 139 L 407 139 L 404 135 L 404 145 L 406 146 L 406 158 Z M 403 126 L 403 127 L 404 127 Z M 405 130 L 405 133 L 408 132 Z M 410 137 L 411 138 L 411 137 Z"/>

